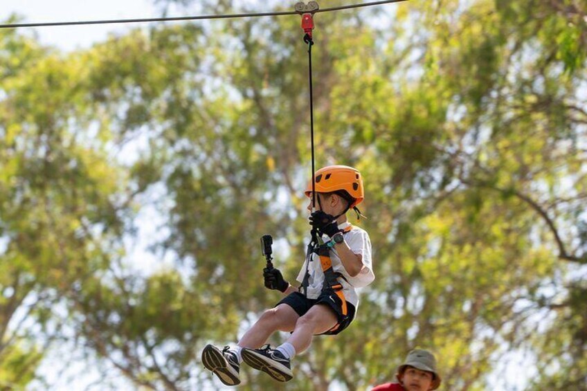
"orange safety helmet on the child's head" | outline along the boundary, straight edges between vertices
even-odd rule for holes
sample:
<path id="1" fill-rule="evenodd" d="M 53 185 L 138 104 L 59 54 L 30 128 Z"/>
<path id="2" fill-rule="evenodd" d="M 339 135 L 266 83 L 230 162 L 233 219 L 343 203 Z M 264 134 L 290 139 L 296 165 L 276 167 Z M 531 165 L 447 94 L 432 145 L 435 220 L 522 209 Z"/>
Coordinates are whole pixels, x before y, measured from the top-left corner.
<path id="1" fill-rule="evenodd" d="M 345 190 L 354 199 L 349 209 L 359 205 L 364 199 L 361 173 L 353 167 L 347 165 L 328 165 L 316 171 L 314 178 L 316 178 L 314 187 L 317 193 Z M 306 197 L 311 197 L 311 190 L 312 183 L 309 181 L 304 191 Z"/>

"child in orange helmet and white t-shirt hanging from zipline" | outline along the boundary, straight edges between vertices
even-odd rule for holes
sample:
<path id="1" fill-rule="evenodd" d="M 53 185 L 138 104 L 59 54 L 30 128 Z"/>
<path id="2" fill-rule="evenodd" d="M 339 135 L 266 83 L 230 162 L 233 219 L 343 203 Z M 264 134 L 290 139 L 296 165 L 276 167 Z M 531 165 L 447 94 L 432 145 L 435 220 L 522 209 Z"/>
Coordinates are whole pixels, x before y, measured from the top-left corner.
<path id="1" fill-rule="evenodd" d="M 363 201 L 359 171 L 345 165 L 323 167 L 314 174 L 314 194 L 310 181 L 305 195 L 310 199 L 312 241 L 298 274 L 300 288 L 291 286 L 278 269 L 264 269 L 265 287 L 281 291 L 285 298 L 264 311 L 235 348 L 206 345 L 202 352 L 204 367 L 226 385 L 240 383 L 242 361 L 276 381 L 291 380 L 293 356 L 309 347 L 312 336 L 334 335 L 347 328 L 359 305 L 356 288 L 375 278 L 369 235 L 346 217 L 351 208 L 361 216 L 356 208 Z M 291 335 L 276 349 L 262 347 L 275 331 Z"/>

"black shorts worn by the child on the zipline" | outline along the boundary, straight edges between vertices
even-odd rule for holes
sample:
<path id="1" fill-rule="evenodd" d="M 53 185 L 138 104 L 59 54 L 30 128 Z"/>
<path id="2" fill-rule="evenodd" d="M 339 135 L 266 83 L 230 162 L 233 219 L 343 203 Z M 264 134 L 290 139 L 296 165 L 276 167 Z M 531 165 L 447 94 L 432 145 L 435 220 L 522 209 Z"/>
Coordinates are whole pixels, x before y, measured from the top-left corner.
<path id="1" fill-rule="evenodd" d="M 305 313 L 316 304 L 324 304 L 332 309 L 336 314 L 336 320 L 338 320 L 338 329 L 322 333 L 325 335 L 336 335 L 346 329 L 354 319 L 355 313 L 354 305 L 347 302 L 347 315 L 344 316 L 341 298 L 338 298 L 338 295 L 333 291 L 322 291 L 317 299 L 309 299 L 300 292 L 293 292 L 278 302 L 276 307 L 279 304 L 289 305 L 289 307 L 293 308 L 293 311 L 296 311 L 299 316 L 304 316 Z"/>

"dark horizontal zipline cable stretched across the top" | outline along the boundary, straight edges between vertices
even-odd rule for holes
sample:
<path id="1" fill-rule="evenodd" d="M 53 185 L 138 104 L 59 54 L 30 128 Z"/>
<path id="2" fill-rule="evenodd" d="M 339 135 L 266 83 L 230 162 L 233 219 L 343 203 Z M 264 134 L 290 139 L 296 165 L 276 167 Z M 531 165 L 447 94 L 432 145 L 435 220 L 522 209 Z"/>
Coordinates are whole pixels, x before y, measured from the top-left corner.
<path id="1" fill-rule="evenodd" d="M 379 6 L 381 4 L 399 3 L 401 1 L 408 1 L 408 0 L 372 1 L 369 3 L 349 4 L 347 6 L 323 8 L 321 10 L 317 10 L 316 12 L 350 10 L 352 8 Z M 43 23 L 16 23 L 16 24 L 0 24 L 0 28 L 79 26 L 79 25 L 86 25 L 86 24 L 149 23 L 149 22 L 157 22 L 157 21 L 237 19 L 237 18 L 246 18 L 246 17 L 278 17 L 278 16 L 284 16 L 284 15 L 298 15 L 298 12 L 296 12 L 296 11 L 248 12 L 248 13 L 243 13 L 243 14 L 226 14 L 226 15 L 196 15 L 196 16 L 191 16 L 191 17 L 157 17 L 157 18 L 141 18 L 141 19 L 105 19 L 105 20 L 87 20 L 87 21 L 54 21 L 54 22 L 43 22 Z"/>

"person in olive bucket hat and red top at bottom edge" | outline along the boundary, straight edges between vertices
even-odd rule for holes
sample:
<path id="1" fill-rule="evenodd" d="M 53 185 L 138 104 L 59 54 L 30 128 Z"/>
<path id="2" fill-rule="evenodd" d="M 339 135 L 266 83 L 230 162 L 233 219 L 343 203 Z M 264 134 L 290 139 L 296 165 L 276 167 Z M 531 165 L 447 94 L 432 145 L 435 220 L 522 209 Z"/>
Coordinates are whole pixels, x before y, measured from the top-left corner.
<path id="1" fill-rule="evenodd" d="M 399 383 L 377 385 L 372 391 L 429 391 L 440 387 L 442 379 L 436 369 L 436 358 L 424 349 L 413 349 L 395 374 Z"/>

